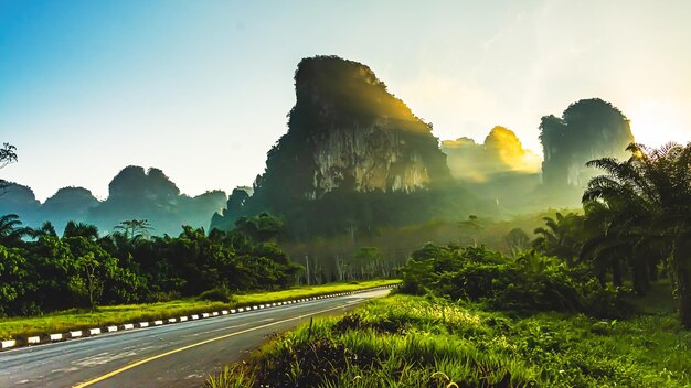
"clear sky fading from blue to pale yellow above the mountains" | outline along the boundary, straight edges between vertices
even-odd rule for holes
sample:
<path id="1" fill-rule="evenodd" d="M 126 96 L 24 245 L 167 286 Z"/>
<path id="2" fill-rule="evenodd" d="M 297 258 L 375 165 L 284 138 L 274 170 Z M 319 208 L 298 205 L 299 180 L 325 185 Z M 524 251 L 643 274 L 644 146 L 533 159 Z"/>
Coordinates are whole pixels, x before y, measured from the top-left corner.
<path id="1" fill-rule="evenodd" d="M 691 140 L 687 0 L 0 0 L 0 171 L 105 198 L 126 165 L 231 192 L 286 132 L 300 58 L 370 66 L 440 140 L 599 97 L 650 146 Z"/>

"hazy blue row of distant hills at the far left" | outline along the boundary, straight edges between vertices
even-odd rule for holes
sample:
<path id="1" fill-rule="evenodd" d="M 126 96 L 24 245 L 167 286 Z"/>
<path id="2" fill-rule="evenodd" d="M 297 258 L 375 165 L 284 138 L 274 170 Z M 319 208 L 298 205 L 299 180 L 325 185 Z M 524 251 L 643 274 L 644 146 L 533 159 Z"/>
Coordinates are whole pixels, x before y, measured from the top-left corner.
<path id="1" fill-rule="evenodd" d="M 94 224 L 107 233 L 126 219 L 148 219 L 152 234 L 178 235 L 182 225 L 208 228 L 210 217 L 227 201 L 222 191 L 181 194 L 161 170 L 136 165 L 123 169 L 108 191 L 108 198 L 100 202 L 84 187 L 63 187 L 41 204 L 30 187 L 11 184 L 0 196 L 0 214 L 18 214 L 33 227 L 50 220 L 59 233 L 68 220 Z"/>

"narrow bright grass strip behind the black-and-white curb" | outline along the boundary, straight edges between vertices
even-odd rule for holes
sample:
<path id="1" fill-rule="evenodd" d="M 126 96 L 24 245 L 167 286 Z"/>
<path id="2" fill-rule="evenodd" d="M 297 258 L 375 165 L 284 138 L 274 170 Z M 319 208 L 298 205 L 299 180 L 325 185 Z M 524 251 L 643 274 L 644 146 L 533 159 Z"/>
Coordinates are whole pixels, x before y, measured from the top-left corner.
<path id="1" fill-rule="evenodd" d="M 397 282 L 400 281 L 372 280 L 352 284 L 302 285 L 280 291 L 236 294 L 230 303 L 191 298 L 159 303 L 100 306 L 96 312 L 68 310 L 43 316 L 2 319 L 0 320 L 0 338 L 21 338 L 124 323 L 150 322 L 257 303 L 274 303 L 329 293 L 355 291 Z"/>

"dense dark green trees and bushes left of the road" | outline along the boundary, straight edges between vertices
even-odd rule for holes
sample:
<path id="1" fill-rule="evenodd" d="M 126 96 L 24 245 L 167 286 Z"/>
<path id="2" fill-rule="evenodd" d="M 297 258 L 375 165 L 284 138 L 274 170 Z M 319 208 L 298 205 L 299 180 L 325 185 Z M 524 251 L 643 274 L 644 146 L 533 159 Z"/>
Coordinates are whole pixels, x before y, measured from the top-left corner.
<path id="1" fill-rule="evenodd" d="M 192 297 L 227 302 L 230 291 L 285 289 L 301 266 L 268 241 L 280 231 L 278 218 L 262 214 L 237 230 L 183 226 L 178 237 L 151 237 L 148 222 L 120 223 L 99 237 L 88 224 L 68 222 L 62 237 L 52 225 L 21 227 L 14 215 L 0 217 L 0 315 L 35 315 L 70 308 Z M 255 227 L 251 228 L 248 225 Z M 248 233 L 251 230 L 251 233 Z M 24 241 L 30 234 L 34 240 Z M 259 238 L 261 240 L 256 240 Z"/>

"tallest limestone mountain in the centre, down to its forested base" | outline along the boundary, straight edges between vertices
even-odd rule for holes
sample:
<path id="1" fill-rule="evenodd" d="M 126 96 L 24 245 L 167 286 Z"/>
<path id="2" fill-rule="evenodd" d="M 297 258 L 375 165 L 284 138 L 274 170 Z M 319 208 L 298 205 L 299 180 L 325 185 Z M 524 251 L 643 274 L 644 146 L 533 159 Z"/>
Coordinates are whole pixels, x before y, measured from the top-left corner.
<path id="1" fill-rule="evenodd" d="M 336 56 L 305 58 L 295 93 L 288 131 L 268 152 L 254 194 L 234 191 L 212 227 L 230 229 L 241 216 L 269 211 L 294 230 L 352 229 L 358 223 L 370 228 L 415 206 L 426 212 L 412 197 L 451 181 L 432 125 L 368 66 Z M 340 213 L 326 214 L 331 211 Z M 330 223 L 322 228 L 323 218 Z"/>

